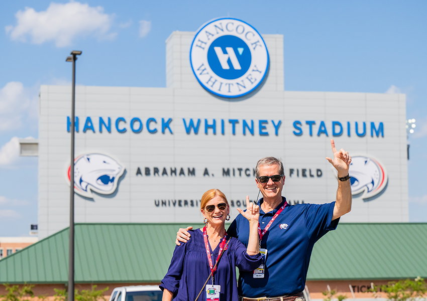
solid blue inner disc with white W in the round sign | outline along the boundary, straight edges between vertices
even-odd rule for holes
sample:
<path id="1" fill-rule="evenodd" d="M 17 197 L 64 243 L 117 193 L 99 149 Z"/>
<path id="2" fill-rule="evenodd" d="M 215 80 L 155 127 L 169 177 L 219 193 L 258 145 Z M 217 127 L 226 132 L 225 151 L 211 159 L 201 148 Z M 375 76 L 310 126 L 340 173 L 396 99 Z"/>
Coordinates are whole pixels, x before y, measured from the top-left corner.
<path id="1" fill-rule="evenodd" d="M 245 75 L 251 66 L 251 50 L 235 36 L 222 36 L 210 44 L 207 63 L 221 78 L 236 79 Z"/>

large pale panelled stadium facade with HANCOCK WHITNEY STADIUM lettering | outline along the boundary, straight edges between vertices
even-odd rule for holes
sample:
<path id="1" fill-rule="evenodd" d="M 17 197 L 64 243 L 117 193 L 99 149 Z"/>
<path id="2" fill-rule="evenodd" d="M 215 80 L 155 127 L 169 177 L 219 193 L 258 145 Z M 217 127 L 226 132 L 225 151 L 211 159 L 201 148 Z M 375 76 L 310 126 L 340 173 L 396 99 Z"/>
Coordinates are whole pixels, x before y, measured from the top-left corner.
<path id="1" fill-rule="evenodd" d="M 210 188 L 234 218 L 266 156 L 282 159 L 291 204 L 332 202 L 333 138 L 353 157 L 342 221 L 407 222 L 405 95 L 285 91 L 283 43 L 217 19 L 169 36 L 165 88 L 77 86 L 75 221 L 200 222 Z M 40 88 L 39 239 L 69 225 L 70 100 Z"/>

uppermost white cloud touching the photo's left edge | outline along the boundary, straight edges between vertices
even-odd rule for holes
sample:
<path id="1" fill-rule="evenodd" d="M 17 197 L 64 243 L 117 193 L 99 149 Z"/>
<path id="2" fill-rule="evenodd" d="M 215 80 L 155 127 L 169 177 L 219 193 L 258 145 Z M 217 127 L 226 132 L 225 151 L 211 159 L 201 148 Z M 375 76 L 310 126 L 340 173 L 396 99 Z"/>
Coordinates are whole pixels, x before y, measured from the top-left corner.
<path id="1" fill-rule="evenodd" d="M 0 132 L 21 128 L 23 121 L 37 120 L 36 95 L 20 82 L 9 82 L 0 90 Z"/>

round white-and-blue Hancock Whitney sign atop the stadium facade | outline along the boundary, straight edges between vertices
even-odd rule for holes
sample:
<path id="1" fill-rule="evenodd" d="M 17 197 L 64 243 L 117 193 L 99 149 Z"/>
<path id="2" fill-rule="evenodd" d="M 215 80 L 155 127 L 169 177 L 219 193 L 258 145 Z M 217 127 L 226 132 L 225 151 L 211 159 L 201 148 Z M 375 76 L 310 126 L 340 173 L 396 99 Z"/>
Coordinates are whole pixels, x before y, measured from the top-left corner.
<path id="1" fill-rule="evenodd" d="M 200 85 L 222 97 L 240 97 L 264 80 L 269 65 L 267 47 L 251 25 L 233 18 L 209 21 L 190 48 L 190 63 Z"/>

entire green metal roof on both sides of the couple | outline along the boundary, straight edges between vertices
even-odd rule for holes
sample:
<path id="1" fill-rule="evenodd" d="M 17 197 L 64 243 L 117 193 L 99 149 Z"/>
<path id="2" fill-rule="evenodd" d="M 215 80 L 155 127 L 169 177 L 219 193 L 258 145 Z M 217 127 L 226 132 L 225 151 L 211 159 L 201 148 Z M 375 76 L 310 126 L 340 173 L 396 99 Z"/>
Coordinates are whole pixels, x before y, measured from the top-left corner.
<path id="1" fill-rule="evenodd" d="M 160 282 L 188 224 L 76 224 L 76 283 Z M 200 227 L 200 224 L 193 225 Z M 0 283 L 68 281 L 68 228 L 0 260 Z M 342 223 L 314 246 L 307 280 L 427 277 L 427 223 Z"/>

